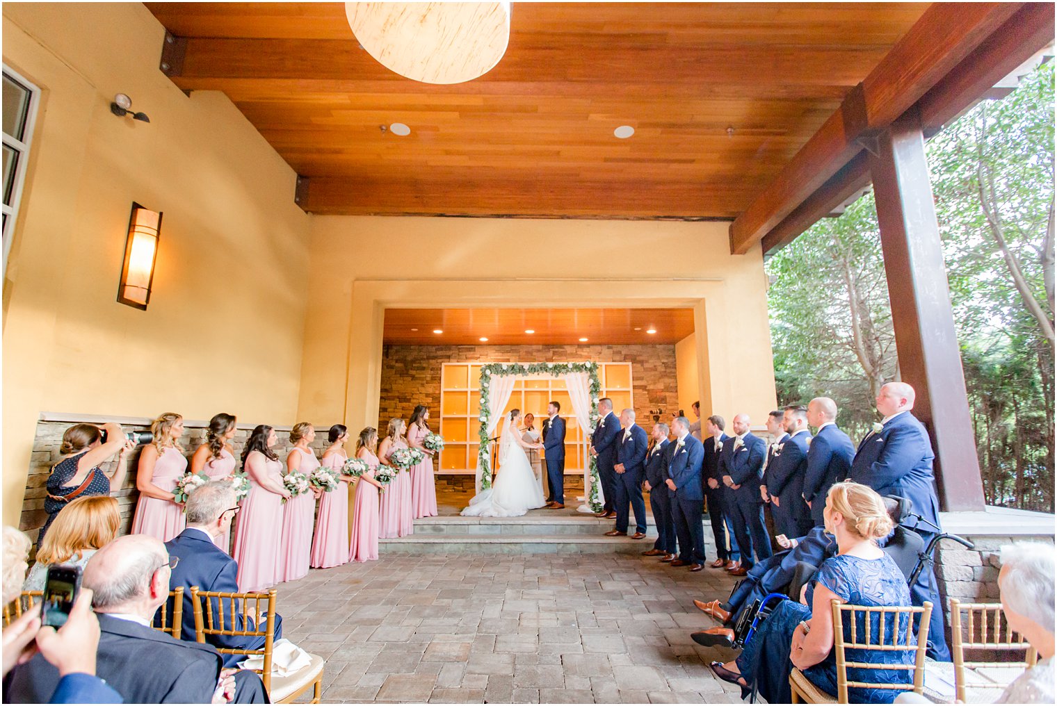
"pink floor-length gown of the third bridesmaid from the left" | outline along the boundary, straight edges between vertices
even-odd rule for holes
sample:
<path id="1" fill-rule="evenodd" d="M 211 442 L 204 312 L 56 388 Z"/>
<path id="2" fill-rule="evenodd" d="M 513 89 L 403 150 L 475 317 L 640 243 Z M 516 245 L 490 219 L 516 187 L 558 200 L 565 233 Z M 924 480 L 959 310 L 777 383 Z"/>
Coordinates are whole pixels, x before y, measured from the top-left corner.
<path id="1" fill-rule="evenodd" d="M 264 459 L 264 472 L 282 483 L 281 461 Z M 283 514 L 282 496 L 258 485 L 251 473 L 249 495 L 242 500 L 231 553 L 239 564 L 239 591 L 263 591 L 279 582 Z"/>

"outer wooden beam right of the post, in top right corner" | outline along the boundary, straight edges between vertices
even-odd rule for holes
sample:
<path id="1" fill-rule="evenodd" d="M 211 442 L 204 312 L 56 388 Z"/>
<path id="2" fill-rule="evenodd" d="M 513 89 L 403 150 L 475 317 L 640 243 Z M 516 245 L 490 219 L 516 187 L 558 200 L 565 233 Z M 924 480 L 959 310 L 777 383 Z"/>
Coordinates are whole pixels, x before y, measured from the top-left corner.
<path id="1" fill-rule="evenodd" d="M 991 97 L 994 86 L 1054 40 L 1052 2 L 1028 2 L 1000 26 L 920 104 L 925 130 L 942 128 L 982 97 Z"/>

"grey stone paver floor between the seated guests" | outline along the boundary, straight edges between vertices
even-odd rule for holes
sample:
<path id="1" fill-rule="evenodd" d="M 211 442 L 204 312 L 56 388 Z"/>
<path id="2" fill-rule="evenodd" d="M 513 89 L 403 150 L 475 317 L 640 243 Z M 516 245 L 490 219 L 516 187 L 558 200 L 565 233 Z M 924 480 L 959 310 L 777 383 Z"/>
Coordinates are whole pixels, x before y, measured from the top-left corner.
<path id="1" fill-rule="evenodd" d="M 648 549 L 644 545 L 644 549 Z M 690 639 L 733 579 L 638 555 L 383 556 L 279 587 L 323 701 L 737 703 Z"/>

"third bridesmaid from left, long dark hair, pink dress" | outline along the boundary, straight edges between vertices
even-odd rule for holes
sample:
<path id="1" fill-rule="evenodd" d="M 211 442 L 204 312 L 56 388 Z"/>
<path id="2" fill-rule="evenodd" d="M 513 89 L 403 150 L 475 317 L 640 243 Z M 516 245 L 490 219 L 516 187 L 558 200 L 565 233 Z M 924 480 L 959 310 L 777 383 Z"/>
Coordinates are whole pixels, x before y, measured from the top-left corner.
<path id="1" fill-rule="evenodd" d="M 242 501 L 235 528 L 231 557 L 239 564 L 239 591 L 263 591 L 279 582 L 282 549 L 282 499 L 290 490 L 282 485 L 282 462 L 272 450 L 275 429 L 255 427 L 242 450 L 242 467 L 249 476 L 249 495 Z"/>

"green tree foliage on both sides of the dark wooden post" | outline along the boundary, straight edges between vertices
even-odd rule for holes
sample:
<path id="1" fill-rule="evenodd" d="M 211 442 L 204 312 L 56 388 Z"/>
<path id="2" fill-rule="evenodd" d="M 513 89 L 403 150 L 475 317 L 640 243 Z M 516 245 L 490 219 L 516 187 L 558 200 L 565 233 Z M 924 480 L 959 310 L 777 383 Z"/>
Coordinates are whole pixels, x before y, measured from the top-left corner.
<path id="1" fill-rule="evenodd" d="M 988 503 L 1054 509 L 1054 68 L 928 144 Z M 783 404 L 836 400 L 853 435 L 898 377 L 872 194 L 767 262 Z"/>

